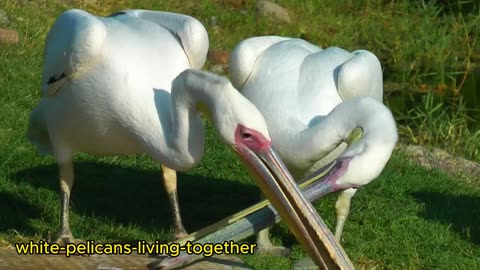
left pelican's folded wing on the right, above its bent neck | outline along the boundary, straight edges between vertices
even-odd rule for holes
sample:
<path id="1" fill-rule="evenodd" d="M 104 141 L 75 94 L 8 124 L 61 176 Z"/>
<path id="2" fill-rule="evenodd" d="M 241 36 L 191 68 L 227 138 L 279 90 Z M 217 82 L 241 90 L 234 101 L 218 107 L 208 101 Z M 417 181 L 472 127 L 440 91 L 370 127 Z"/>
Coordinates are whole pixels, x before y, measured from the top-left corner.
<path id="1" fill-rule="evenodd" d="M 207 30 L 198 20 L 181 14 L 140 9 L 123 10 L 129 16 L 148 20 L 165 27 L 180 41 L 190 65 L 201 69 L 208 53 Z"/>

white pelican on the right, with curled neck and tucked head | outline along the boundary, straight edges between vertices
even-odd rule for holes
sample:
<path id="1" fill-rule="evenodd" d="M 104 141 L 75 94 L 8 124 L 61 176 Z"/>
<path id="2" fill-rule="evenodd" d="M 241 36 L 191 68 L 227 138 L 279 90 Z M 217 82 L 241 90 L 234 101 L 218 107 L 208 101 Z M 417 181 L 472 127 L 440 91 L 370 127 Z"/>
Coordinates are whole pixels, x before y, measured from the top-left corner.
<path id="1" fill-rule="evenodd" d="M 325 165 L 322 159 L 337 157 L 322 188 L 325 194 L 342 191 L 336 202 L 340 240 L 356 188 L 380 174 L 398 137 L 382 104 L 377 57 L 365 50 L 322 50 L 301 39 L 254 37 L 235 47 L 230 72 L 233 85 L 262 112 L 273 146 L 296 179 Z M 345 149 L 356 128 L 362 139 Z M 268 231 L 257 241 L 278 252 Z"/>

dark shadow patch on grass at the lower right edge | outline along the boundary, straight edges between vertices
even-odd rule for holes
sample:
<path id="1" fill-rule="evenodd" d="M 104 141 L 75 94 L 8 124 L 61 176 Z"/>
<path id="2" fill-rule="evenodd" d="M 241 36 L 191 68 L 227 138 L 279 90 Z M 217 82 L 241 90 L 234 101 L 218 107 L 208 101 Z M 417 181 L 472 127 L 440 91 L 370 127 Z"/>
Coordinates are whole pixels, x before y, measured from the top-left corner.
<path id="1" fill-rule="evenodd" d="M 425 203 L 421 216 L 451 225 L 451 229 L 474 244 L 480 244 L 480 198 L 449 195 L 429 191 L 412 193 L 418 202 Z"/>

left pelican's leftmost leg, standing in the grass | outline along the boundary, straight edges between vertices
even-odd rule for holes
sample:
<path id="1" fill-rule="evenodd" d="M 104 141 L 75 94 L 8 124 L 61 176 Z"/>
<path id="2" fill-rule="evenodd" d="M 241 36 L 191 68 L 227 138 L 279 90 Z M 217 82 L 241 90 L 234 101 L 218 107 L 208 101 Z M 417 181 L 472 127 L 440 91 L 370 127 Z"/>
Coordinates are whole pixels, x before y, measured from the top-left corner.
<path id="1" fill-rule="evenodd" d="M 73 186 L 73 163 L 59 163 L 60 172 L 60 228 L 58 229 L 56 243 L 65 245 L 67 243 L 78 243 L 70 231 L 69 210 L 70 210 L 70 192 Z"/>

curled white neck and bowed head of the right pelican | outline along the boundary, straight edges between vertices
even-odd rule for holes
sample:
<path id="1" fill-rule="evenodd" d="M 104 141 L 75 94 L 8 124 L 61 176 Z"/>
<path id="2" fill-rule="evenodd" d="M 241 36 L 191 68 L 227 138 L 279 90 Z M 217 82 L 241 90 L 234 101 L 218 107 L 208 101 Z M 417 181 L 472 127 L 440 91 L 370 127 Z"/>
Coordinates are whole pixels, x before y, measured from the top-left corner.
<path id="1" fill-rule="evenodd" d="M 325 180 L 317 183 L 318 191 L 324 194 L 367 185 L 380 175 L 398 140 L 391 111 L 373 98 L 362 97 L 340 103 L 327 118 L 330 128 L 341 137 L 348 137 L 344 133 L 355 128 L 361 128 L 363 136 L 301 182 L 311 181 L 328 171 Z M 336 121 L 340 118 L 343 120 Z"/>

